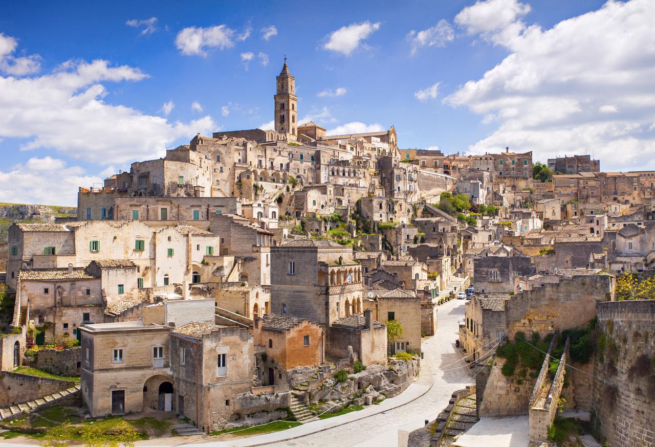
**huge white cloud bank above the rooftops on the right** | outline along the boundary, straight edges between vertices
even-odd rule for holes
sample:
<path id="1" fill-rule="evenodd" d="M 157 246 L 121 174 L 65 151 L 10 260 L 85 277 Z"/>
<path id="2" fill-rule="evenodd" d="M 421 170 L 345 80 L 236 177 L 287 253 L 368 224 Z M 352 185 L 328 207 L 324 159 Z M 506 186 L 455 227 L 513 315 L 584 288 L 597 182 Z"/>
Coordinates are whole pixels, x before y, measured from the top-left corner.
<path id="1" fill-rule="evenodd" d="M 654 166 L 655 3 L 609 1 L 551 29 L 526 26 L 518 18 L 527 6 L 514 5 L 509 15 L 464 9 L 456 18 L 510 53 L 445 99 L 498 122 L 471 151 L 510 146 L 542 160 L 593 151 L 608 171 Z M 494 14 L 502 17 L 485 25 Z"/>

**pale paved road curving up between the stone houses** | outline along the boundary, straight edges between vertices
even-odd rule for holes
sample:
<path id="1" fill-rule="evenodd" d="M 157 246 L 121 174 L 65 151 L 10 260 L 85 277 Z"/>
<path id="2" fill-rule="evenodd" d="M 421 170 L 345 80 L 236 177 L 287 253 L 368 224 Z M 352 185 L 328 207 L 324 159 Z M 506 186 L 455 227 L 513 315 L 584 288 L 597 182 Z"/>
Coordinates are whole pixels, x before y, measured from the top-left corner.
<path id="1" fill-rule="evenodd" d="M 456 368 L 464 364 L 458 361 L 460 355 L 455 351 L 458 321 L 464 317 L 464 300 L 451 300 L 443 304 L 437 315 L 439 323 L 436 335 L 422 346 L 425 358 L 419 378 L 401 395 L 358 412 L 306 423 L 278 433 L 222 442 L 206 440 L 201 443 L 211 446 L 404 445 L 402 440 L 404 438 L 406 443 L 409 432 L 422 427 L 424 420 L 436 418 L 448 404 L 453 391 L 472 383 L 468 368 Z M 455 365 L 443 368 L 451 363 Z M 400 404 L 403 405 L 398 406 Z M 315 431 L 318 433 L 312 433 Z M 293 437 L 298 438 L 290 439 Z"/>

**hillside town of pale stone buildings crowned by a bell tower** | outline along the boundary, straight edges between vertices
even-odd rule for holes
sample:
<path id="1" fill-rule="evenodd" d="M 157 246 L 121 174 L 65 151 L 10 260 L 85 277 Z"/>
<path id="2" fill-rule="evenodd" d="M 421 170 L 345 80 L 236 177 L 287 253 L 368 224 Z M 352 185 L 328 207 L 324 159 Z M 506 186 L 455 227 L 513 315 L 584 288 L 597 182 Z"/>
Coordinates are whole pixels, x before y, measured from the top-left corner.
<path id="1" fill-rule="evenodd" d="M 166 445 L 280 422 L 252 444 L 332 445 L 319 421 L 365 414 L 404 446 L 654 445 L 655 171 L 328 135 L 295 82 L 285 58 L 273 130 L 196 134 L 9 226 L 1 426 L 56 406 Z"/>

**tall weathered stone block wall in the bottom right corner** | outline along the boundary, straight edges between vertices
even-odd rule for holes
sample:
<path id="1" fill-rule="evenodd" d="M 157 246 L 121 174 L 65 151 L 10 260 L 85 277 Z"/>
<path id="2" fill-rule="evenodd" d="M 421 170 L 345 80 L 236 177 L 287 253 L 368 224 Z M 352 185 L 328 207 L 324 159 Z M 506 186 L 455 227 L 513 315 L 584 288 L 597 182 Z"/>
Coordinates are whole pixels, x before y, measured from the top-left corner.
<path id="1" fill-rule="evenodd" d="M 612 447 L 655 441 L 655 300 L 601 302 L 591 424 Z"/>

